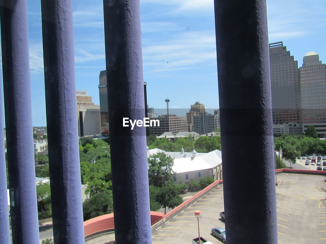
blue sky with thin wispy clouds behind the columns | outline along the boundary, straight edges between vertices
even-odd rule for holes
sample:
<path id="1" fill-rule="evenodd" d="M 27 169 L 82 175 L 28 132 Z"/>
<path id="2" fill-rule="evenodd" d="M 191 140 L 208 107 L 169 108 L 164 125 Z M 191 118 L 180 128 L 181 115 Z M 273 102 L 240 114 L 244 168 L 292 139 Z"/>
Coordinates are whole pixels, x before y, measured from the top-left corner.
<path id="1" fill-rule="evenodd" d="M 40 1 L 28 2 L 33 126 L 45 126 Z M 73 0 L 76 89 L 99 104 L 105 70 L 103 1 Z M 310 51 L 326 62 L 325 0 L 268 0 L 269 42 L 283 41 L 302 65 Z M 213 0 L 141 0 L 144 81 L 150 107 L 218 108 Z M 164 60 L 164 61 L 163 61 Z"/>

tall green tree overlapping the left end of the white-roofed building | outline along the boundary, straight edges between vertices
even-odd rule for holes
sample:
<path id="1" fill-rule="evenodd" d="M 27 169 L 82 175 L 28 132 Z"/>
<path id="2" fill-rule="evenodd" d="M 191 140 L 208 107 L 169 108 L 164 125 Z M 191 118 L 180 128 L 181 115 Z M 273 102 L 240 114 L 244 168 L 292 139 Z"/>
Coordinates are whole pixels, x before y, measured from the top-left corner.
<path id="1" fill-rule="evenodd" d="M 173 174 L 173 158 L 165 153 L 157 153 L 147 158 L 150 185 L 161 186 L 163 179 L 170 180 Z"/>

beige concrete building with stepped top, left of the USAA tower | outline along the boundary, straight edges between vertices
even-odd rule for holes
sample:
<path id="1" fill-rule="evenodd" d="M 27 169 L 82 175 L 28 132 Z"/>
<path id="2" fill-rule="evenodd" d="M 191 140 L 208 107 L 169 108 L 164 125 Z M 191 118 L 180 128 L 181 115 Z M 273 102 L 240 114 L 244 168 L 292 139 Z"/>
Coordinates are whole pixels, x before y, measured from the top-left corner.
<path id="1" fill-rule="evenodd" d="M 76 91 L 78 136 L 92 136 L 101 133 L 100 106 L 92 102 L 87 91 Z"/>

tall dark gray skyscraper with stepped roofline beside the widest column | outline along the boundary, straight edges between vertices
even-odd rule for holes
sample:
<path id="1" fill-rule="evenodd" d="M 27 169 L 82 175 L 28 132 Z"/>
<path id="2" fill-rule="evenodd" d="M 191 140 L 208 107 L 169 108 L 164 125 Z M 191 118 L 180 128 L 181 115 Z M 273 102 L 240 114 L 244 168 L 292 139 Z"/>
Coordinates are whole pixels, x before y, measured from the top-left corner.
<path id="1" fill-rule="evenodd" d="M 300 123 L 298 61 L 283 42 L 269 44 L 273 123 Z"/>

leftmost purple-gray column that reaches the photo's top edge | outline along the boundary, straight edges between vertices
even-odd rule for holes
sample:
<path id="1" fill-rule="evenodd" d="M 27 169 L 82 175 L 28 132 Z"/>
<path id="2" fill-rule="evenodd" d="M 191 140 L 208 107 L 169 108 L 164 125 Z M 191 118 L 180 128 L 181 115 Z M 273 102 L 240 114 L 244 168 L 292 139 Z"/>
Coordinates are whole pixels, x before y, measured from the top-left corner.
<path id="1" fill-rule="evenodd" d="M 26 0 L 1 0 L 0 19 L 12 241 L 36 244 L 39 235 Z"/>

